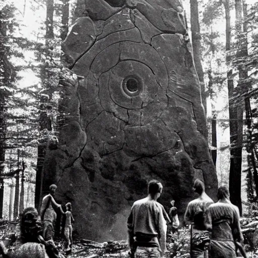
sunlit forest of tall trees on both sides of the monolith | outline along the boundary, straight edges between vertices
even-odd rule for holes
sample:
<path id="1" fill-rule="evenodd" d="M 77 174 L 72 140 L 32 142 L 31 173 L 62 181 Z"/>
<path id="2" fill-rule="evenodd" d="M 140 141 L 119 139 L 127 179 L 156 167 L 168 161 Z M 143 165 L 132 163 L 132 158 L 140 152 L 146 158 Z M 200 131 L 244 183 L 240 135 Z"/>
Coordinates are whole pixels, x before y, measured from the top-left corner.
<path id="1" fill-rule="evenodd" d="M 75 21 L 87 16 L 86 3 L 0 3 L 0 218 L 15 220 L 29 205 L 39 206 L 47 142 L 55 148 L 58 128 L 69 115 L 58 105 L 71 80 L 72 63 L 62 42 Z M 219 185 L 228 185 L 230 201 L 241 215 L 255 217 L 258 1 L 182 0 L 182 4 Z"/>

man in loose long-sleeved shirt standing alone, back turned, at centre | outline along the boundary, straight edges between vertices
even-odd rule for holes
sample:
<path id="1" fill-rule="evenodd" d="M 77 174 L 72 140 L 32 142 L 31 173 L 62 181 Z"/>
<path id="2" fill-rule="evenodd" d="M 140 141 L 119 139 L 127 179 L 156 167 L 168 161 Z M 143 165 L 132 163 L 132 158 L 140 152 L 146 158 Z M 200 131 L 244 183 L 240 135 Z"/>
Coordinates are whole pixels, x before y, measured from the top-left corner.
<path id="1" fill-rule="evenodd" d="M 159 258 L 165 254 L 167 225 L 163 206 L 157 202 L 161 192 L 162 184 L 151 180 L 148 196 L 134 203 L 128 217 L 128 242 L 131 255 L 136 258 Z"/>

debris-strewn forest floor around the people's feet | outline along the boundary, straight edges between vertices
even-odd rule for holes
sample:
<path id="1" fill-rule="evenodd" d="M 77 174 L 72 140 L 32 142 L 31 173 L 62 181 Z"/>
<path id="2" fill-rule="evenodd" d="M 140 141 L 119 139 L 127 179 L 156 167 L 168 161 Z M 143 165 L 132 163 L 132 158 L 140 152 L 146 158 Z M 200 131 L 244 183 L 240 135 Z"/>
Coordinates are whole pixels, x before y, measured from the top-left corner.
<path id="1" fill-rule="evenodd" d="M 258 218 L 257 218 L 258 219 Z M 258 232 L 258 220 L 253 221 L 250 219 L 245 219 L 241 222 L 241 226 L 249 230 L 251 227 L 248 225 L 255 226 L 255 232 Z M 21 245 L 19 241 L 19 222 L 9 222 L 0 220 L 0 240 L 4 240 L 11 236 L 12 243 L 11 246 L 14 250 Z M 257 228 L 257 230 L 256 230 Z M 244 229 L 244 230 L 245 230 Z M 15 232 L 15 233 L 14 233 Z M 189 258 L 189 242 L 190 233 L 189 227 L 184 227 L 179 229 L 178 233 L 172 234 L 170 231 L 167 234 L 167 258 L 181 257 Z M 253 231 L 252 231 L 253 232 Z M 251 233 L 252 233 L 251 232 Z M 248 235 L 244 233 L 245 242 L 250 241 Z M 254 237 L 258 237 L 254 235 Z M 250 238 L 250 237 L 249 237 Z M 61 237 L 54 238 L 54 243 L 60 253 L 62 253 L 67 258 L 130 258 L 128 254 L 128 246 L 126 240 L 120 241 L 107 241 L 103 243 L 83 239 L 74 236 L 74 243 L 71 253 L 66 253 L 66 248 L 64 246 L 64 239 Z M 255 245 L 254 245 L 255 246 Z M 251 248 L 247 243 L 245 249 L 248 251 L 248 257 L 258 258 L 258 250 L 256 248 Z"/>

